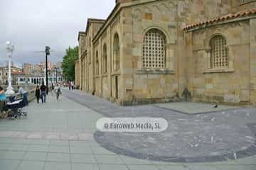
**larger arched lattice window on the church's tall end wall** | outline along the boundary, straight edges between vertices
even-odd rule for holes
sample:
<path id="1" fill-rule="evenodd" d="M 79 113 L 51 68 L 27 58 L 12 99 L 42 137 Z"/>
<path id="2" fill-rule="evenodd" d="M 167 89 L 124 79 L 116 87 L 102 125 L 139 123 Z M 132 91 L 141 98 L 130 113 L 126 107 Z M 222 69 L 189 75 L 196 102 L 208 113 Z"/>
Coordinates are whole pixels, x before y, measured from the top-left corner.
<path id="1" fill-rule="evenodd" d="M 166 67 L 166 36 L 161 30 L 151 29 L 146 32 L 142 50 L 144 68 Z"/>

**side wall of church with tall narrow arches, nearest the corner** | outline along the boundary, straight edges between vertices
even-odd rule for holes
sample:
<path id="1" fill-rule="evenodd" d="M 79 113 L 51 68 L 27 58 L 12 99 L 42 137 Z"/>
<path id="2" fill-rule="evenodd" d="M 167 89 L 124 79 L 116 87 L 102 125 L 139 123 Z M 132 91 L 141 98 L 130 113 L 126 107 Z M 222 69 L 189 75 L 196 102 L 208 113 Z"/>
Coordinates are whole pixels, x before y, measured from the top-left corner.
<path id="1" fill-rule="evenodd" d="M 92 69 L 93 69 L 93 79 L 95 80 L 94 91 L 97 96 L 107 98 L 111 101 L 117 101 L 118 98 L 114 98 L 115 91 L 115 81 L 114 77 L 120 77 L 120 69 L 114 69 L 114 35 L 119 37 L 119 41 L 122 40 L 122 33 L 120 28 L 119 16 L 116 16 L 109 26 L 102 32 L 100 38 L 93 41 L 92 47 Z M 104 52 L 104 46 L 106 47 L 106 52 Z M 119 45 L 122 49 L 122 44 Z M 98 55 L 98 67 L 99 71 L 96 74 L 96 54 Z M 104 71 L 103 57 L 107 56 L 107 72 Z M 122 50 L 119 50 L 120 57 L 122 56 Z M 121 60 L 120 60 L 121 62 Z M 92 78 L 89 78 L 92 79 Z M 119 79 L 117 79 L 117 84 L 119 84 Z M 118 85 L 119 86 L 119 85 Z M 120 89 L 117 88 L 117 91 Z M 120 93 L 121 94 L 121 93 Z"/>

